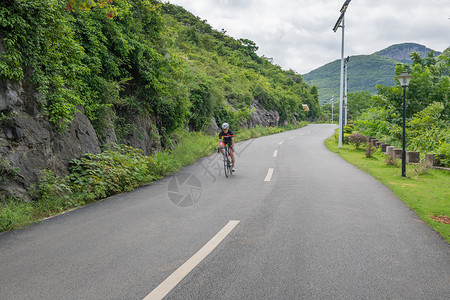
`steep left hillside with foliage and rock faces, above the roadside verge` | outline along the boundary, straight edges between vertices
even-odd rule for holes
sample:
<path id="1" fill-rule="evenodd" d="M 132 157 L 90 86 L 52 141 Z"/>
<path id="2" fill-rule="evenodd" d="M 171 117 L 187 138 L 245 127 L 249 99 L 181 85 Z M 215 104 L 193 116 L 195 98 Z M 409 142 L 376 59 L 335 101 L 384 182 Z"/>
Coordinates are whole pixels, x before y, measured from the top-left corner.
<path id="1" fill-rule="evenodd" d="M 110 143 L 153 155 L 170 150 L 180 128 L 215 133 L 221 122 L 239 130 L 321 114 L 317 88 L 299 74 L 169 3 L 86 10 L 2 0 L 0 16 L 0 202 Z"/>

